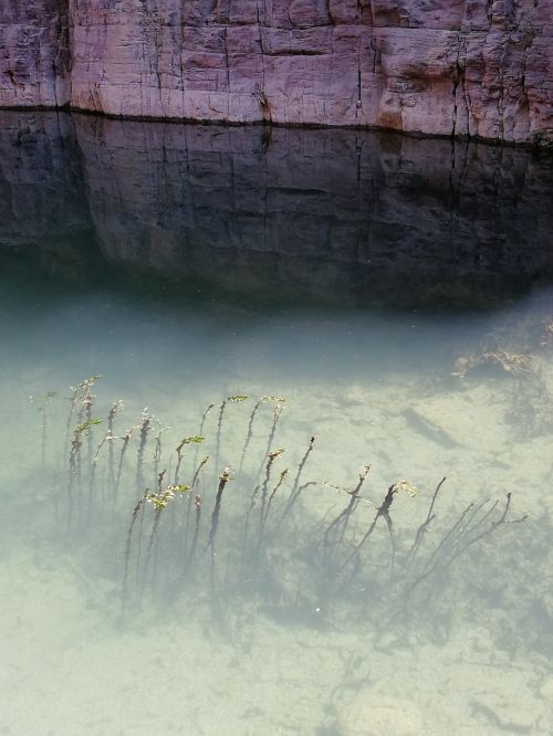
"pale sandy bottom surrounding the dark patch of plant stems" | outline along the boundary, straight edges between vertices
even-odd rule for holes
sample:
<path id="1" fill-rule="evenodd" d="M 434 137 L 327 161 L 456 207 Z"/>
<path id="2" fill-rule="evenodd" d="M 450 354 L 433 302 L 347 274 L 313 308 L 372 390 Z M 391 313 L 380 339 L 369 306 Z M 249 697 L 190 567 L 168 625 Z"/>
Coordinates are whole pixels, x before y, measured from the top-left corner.
<path id="1" fill-rule="evenodd" d="M 524 627 L 512 646 L 494 637 L 511 604 L 518 606 L 526 571 L 538 569 L 544 571 L 541 587 L 525 591 L 533 597 L 525 606 L 528 616 L 538 611 L 551 642 L 551 544 L 545 551 L 511 550 L 520 565 L 507 570 L 511 598 L 501 604 L 487 600 L 492 581 L 483 575 L 479 597 L 459 601 L 440 644 L 416 628 L 405 632 L 390 623 L 389 631 L 376 633 L 356 616 L 340 629 L 326 622 L 317 627 L 316 620 L 304 625 L 259 608 L 250 611 L 247 603 L 240 616 L 228 612 L 221 630 L 201 595 L 167 609 L 145 606 L 122 622 L 115 582 L 121 556 L 111 576 L 104 570 L 96 578 L 82 549 L 77 554 L 60 545 L 53 514 L 40 511 L 48 505 L 49 488 L 41 485 L 40 470 L 27 464 L 30 443 L 40 445 L 36 403 L 29 402 L 29 395 L 36 386 L 58 388 L 56 367 L 14 365 L 12 370 L 13 382 L 0 388 L 7 500 L 7 534 L 0 539 L 0 734 L 333 736 L 338 718 L 344 723 L 344 713 L 365 693 L 373 703 L 379 694 L 411 702 L 428 736 L 553 733 L 550 650 L 542 653 L 539 641 L 528 641 Z M 553 390 L 549 358 L 541 376 Z M 288 409 L 274 445 L 286 448 L 291 466 L 316 432 L 316 462 L 307 476 L 352 487 L 361 465 L 372 463 L 367 488 L 375 503 L 389 483 L 407 479 L 426 504 L 446 475 L 440 513 L 471 500 L 503 498 L 507 491 L 513 493 L 513 515 L 528 514 L 528 523 L 549 524 L 546 513 L 553 513 L 551 429 L 519 431 L 523 419 L 532 421 L 532 411 L 547 409 L 546 397 L 526 397 L 522 406 L 518 379 L 511 376 L 492 371 L 452 379 L 444 367 L 421 376 L 398 365 L 385 381 L 364 380 L 357 371 L 326 383 L 306 375 L 284 376 L 268 387 L 246 355 L 216 390 L 201 376 L 185 388 L 178 372 L 165 378 L 144 393 L 176 433 L 182 433 L 179 418 L 189 416 L 190 402 L 202 407 L 213 393 L 243 388 L 252 395 L 282 392 Z M 108 399 L 122 395 L 119 383 L 107 383 Z M 144 406 L 139 395 L 133 396 L 135 388 L 128 382 L 123 395 L 133 419 Z M 197 430 L 198 412 L 192 416 L 186 433 Z M 270 416 L 268 409 L 265 427 Z M 228 420 L 226 446 L 234 441 L 234 450 L 240 449 L 247 420 L 244 410 L 239 432 Z M 265 441 L 267 429 L 257 448 Z M 324 493 L 305 494 L 303 501 L 315 518 L 330 505 Z M 398 524 L 408 521 L 409 508 L 398 506 Z M 34 516 L 36 523 L 29 523 Z M 493 549 L 484 545 L 486 555 Z M 471 609 L 478 612 L 472 618 L 467 614 Z M 517 617 L 524 616 L 521 610 Z"/>

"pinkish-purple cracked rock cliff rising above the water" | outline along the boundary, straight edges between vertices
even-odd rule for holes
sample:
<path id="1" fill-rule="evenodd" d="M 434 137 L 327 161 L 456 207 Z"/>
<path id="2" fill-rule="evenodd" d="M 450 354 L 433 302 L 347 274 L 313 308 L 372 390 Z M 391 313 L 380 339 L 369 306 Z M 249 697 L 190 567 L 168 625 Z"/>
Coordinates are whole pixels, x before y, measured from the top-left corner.
<path id="1" fill-rule="evenodd" d="M 1 0 L 0 105 L 547 145 L 553 0 Z"/>

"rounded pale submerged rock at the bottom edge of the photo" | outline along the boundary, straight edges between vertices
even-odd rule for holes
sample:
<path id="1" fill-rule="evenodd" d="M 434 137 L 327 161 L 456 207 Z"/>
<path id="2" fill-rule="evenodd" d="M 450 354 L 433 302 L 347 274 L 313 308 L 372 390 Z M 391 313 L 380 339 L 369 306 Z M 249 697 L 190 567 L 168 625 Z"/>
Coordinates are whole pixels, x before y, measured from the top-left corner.
<path id="1" fill-rule="evenodd" d="M 363 690 L 338 717 L 340 736 L 421 736 L 422 716 L 411 701 Z"/>

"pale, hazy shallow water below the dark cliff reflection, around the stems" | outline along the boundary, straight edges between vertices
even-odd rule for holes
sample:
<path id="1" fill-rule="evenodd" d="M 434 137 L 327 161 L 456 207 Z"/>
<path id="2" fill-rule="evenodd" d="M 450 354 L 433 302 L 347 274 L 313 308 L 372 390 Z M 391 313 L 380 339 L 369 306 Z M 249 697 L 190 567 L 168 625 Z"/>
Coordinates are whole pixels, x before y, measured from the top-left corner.
<path id="1" fill-rule="evenodd" d="M 38 245 L 41 227 L 35 213 L 28 232 Z M 363 707 L 385 705 L 414 733 L 551 733 L 551 292 L 489 312 L 268 304 L 197 284 L 190 296 L 180 282 L 129 285 L 98 265 L 94 249 L 83 266 L 82 242 L 67 240 L 81 252 L 76 265 L 58 252 L 45 265 L 2 257 L 6 733 L 347 734 L 349 721 L 366 721 Z M 156 461 L 153 419 L 138 469 L 135 430 L 116 503 L 112 443 L 91 483 L 88 437 L 79 477 L 63 442 L 69 387 L 92 374 L 103 375 L 92 458 L 117 399 L 117 438 L 144 407 L 167 428 Z M 49 390 L 58 396 L 43 462 L 39 409 Z M 239 393 L 249 399 L 226 407 L 218 450 L 221 401 Z M 273 402 L 260 406 L 238 470 L 251 411 L 268 393 L 285 399 L 269 442 L 285 450 L 270 493 L 289 474 L 262 527 Z M 128 545 L 140 494 L 155 492 L 164 469 L 161 487 L 173 482 L 175 448 L 199 432 L 211 402 L 196 462 L 209 454 L 218 466 L 208 463 L 195 488 L 204 503 L 195 554 L 188 496 L 170 502 L 154 537 L 145 503 Z M 81 420 L 73 414 L 70 435 Z M 300 485 L 327 485 L 304 488 L 281 524 L 313 434 Z M 115 474 L 122 445 L 113 441 Z M 194 472 L 191 446 L 181 482 Z M 394 498 L 394 547 L 379 518 L 357 557 L 376 509 L 359 502 L 344 528 L 351 497 L 333 486 L 353 490 L 366 463 L 363 496 L 374 506 L 404 479 L 419 494 Z M 234 480 L 210 546 L 215 474 L 227 464 Z M 409 562 L 444 476 L 436 518 Z M 508 491 L 505 521 L 528 519 L 463 549 L 501 519 Z M 473 526 L 488 497 L 499 506 Z M 396 721 L 388 733 L 399 728 Z"/>

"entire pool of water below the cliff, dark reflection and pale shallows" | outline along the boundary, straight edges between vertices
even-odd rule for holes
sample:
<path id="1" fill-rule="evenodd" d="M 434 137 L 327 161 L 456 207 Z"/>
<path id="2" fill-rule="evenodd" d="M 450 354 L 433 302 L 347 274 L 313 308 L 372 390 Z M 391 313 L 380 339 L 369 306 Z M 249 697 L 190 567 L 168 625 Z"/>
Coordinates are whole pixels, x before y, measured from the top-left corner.
<path id="1" fill-rule="evenodd" d="M 3 733 L 553 730 L 547 161 L 331 133 L 2 116 Z"/>

